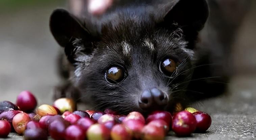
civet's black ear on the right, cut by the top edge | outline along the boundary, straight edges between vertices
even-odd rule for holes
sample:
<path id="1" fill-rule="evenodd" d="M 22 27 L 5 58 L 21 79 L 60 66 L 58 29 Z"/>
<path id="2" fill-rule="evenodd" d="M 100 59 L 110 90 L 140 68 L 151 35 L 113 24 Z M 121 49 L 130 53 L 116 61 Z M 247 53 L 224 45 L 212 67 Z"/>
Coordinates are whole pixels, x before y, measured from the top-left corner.
<path id="1" fill-rule="evenodd" d="M 204 27 L 208 15 L 205 0 L 176 0 L 165 5 L 157 16 L 160 16 L 160 26 L 168 28 L 177 24 L 188 40 L 194 40 L 198 31 Z"/>

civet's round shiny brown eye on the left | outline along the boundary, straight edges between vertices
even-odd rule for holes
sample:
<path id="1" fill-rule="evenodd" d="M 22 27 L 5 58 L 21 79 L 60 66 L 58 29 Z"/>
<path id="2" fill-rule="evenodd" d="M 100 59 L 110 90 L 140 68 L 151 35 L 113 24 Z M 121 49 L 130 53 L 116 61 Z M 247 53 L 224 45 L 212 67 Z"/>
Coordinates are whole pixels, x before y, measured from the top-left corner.
<path id="1" fill-rule="evenodd" d="M 127 73 L 122 66 L 112 66 L 110 67 L 106 74 L 105 78 L 109 83 L 116 84 L 123 81 L 127 77 Z"/>

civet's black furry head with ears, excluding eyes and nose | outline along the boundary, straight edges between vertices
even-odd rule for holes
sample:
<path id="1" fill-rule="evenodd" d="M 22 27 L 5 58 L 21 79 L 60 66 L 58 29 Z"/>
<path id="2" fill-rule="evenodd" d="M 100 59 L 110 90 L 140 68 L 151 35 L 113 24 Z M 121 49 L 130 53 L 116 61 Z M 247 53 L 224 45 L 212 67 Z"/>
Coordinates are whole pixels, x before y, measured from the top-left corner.
<path id="1" fill-rule="evenodd" d="M 70 83 L 56 97 L 71 96 L 96 109 L 127 113 L 142 111 L 138 98 L 143 90 L 152 87 L 168 93 L 170 100 L 165 110 L 172 110 L 177 102 L 185 106 L 214 96 L 213 92 L 218 94 L 220 90 L 215 87 L 220 86 L 206 82 L 214 78 L 207 69 L 207 58 L 199 61 L 196 49 L 198 32 L 207 17 L 205 0 L 176 0 L 158 9 L 125 6 L 106 13 L 100 20 L 55 10 L 50 20 L 51 32 L 74 66 Z M 168 57 L 180 63 L 171 77 L 159 70 L 160 62 Z M 127 69 L 127 78 L 118 84 L 110 84 L 104 78 L 113 64 Z"/>

